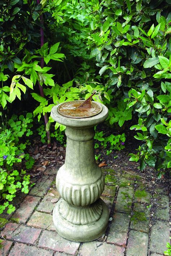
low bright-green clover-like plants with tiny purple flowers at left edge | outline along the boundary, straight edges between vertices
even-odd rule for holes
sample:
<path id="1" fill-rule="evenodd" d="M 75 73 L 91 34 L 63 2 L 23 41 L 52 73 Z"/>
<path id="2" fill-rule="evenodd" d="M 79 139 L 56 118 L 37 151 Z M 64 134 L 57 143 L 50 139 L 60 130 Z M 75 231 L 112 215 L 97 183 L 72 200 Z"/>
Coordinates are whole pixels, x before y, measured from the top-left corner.
<path id="1" fill-rule="evenodd" d="M 10 203 L 16 197 L 17 191 L 29 193 L 30 175 L 22 169 L 21 162 L 25 160 L 25 166 L 30 169 L 34 164 L 34 159 L 29 154 L 24 153 L 29 140 L 21 142 L 23 136 L 29 137 L 32 134 L 32 113 L 27 113 L 26 117 L 20 115 L 18 118 L 13 115 L 8 123 L 0 128 L 0 214 L 8 208 L 10 214 L 15 207 Z M 2 117 L 2 116 L 1 116 Z M 29 161 L 28 161 L 29 160 Z M 18 169 L 18 170 L 17 170 Z"/>

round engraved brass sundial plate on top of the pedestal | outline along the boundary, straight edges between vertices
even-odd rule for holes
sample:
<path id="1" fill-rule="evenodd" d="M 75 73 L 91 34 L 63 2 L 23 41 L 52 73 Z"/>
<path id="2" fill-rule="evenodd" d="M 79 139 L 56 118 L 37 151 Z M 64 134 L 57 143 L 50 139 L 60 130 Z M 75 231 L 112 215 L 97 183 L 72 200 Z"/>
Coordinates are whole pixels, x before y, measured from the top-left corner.
<path id="1" fill-rule="evenodd" d="M 91 107 L 78 108 L 84 100 L 74 100 L 61 104 L 58 107 L 58 113 L 70 118 L 86 118 L 96 116 L 102 111 L 100 104 L 92 102 Z"/>

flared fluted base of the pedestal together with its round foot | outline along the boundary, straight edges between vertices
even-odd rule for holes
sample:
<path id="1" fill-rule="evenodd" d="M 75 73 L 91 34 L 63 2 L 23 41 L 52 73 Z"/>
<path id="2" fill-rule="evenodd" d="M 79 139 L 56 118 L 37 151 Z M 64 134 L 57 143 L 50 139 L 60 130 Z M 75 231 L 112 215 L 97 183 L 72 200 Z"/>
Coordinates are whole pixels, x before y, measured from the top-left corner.
<path id="1" fill-rule="evenodd" d="M 65 203 L 66 202 L 61 198 L 53 209 L 54 227 L 60 236 L 71 241 L 88 242 L 104 234 L 108 224 L 109 211 L 101 199 L 98 199 L 92 205 L 84 208 L 83 218 L 80 218 L 82 207 L 73 207 L 67 203 L 66 207 L 70 209 L 71 212 L 75 212 L 75 216 L 78 216 L 78 220 L 82 219 L 87 222 L 87 224 L 74 224 L 64 219 L 60 214 L 60 206 L 63 208 L 63 204 Z M 100 216 L 98 216 L 98 213 L 100 213 Z M 68 216 L 68 214 L 66 216 Z M 98 216 L 97 220 L 91 222 L 91 219 L 95 218 L 95 216 Z M 76 222 L 76 218 L 75 220 L 73 218 L 72 222 Z"/>

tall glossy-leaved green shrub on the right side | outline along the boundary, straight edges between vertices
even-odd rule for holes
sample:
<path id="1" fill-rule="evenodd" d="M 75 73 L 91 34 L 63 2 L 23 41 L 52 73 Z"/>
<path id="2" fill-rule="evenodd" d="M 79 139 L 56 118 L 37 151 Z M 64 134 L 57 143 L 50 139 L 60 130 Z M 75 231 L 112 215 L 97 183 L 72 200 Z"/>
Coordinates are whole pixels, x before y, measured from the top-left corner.
<path id="1" fill-rule="evenodd" d="M 146 164 L 156 170 L 170 168 L 169 1 L 92 2 L 94 27 L 88 44 L 105 86 L 112 91 L 109 122 L 121 127 L 132 113 L 137 116 L 139 124 L 131 129 L 140 130 L 135 138 L 144 144 L 130 160 L 140 159 L 141 170 Z M 121 103 L 122 115 L 116 102 Z"/>

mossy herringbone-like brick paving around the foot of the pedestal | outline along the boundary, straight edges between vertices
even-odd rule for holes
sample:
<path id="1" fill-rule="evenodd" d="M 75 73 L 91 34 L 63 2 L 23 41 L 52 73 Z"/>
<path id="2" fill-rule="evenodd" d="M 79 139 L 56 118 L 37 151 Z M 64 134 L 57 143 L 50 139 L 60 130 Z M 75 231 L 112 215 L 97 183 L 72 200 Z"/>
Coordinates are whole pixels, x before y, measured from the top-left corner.
<path id="1" fill-rule="evenodd" d="M 48 170 L 29 195 L 15 198 L 16 211 L 3 213 L 0 226 L 2 256 L 159 256 L 169 242 L 168 186 L 146 184 L 136 173 L 103 169 L 106 178 L 101 198 L 110 212 L 106 233 L 78 243 L 61 238 L 54 229 L 52 212 L 60 198 L 54 171 Z M 113 178 L 113 182 L 111 182 Z M 144 181 L 144 179 L 141 179 Z M 156 207 L 152 207 L 156 206 Z M 13 223 L 16 222 L 16 223 Z"/>

